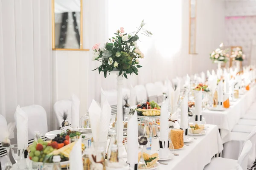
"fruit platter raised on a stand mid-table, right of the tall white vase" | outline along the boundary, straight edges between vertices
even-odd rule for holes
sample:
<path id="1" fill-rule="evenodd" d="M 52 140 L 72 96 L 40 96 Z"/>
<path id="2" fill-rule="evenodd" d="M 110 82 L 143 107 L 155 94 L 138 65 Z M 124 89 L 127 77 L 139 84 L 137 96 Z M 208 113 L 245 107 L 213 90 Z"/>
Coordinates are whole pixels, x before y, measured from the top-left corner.
<path id="1" fill-rule="evenodd" d="M 154 101 L 137 105 L 135 110 L 139 118 L 144 118 L 145 116 L 154 118 L 160 117 L 160 106 Z"/>

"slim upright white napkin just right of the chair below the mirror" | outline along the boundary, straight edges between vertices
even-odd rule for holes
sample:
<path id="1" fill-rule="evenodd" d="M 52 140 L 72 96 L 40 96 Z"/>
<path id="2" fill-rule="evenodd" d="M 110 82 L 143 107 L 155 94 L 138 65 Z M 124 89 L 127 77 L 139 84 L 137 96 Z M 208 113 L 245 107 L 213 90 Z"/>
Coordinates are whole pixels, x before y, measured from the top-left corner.
<path id="1" fill-rule="evenodd" d="M 79 119 L 80 119 L 79 110 L 80 110 L 80 100 L 75 94 L 73 94 L 72 105 L 71 105 L 71 127 L 73 128 L 79 127 Z"/>

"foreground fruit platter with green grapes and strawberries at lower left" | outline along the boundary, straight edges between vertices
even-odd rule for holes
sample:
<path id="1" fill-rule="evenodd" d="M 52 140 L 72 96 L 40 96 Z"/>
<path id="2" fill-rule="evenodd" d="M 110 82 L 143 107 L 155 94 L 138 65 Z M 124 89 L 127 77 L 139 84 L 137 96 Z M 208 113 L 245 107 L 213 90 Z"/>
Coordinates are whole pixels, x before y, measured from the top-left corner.
<path id="1" fill-rule="evenodd" d="M 61 157 L 61 164 L 69 163 L 69 155 L 73 146 L 76 142 L 70 143 L 70 136 L 56 136 L 53 141 L 43 141 L 43 139 L 38 139 L 34 141 L 28 147 L 29 159 L 32 162 L 38 163 L 38 165 L 52 164 L 53 156 L 59 155 Z M 85 149 L 82 143 L 82 150 Z"/>

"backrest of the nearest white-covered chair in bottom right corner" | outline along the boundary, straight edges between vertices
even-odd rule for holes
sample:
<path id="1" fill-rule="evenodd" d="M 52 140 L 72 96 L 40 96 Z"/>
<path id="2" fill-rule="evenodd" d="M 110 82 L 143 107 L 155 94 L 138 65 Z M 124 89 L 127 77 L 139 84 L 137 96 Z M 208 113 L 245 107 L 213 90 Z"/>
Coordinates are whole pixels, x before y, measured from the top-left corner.
<path id="1" fill-rule="evenodd" d="M 247 170 L 248 156 L 251 149 L 252 149 L 252 142 L 248 140 L 244 143 L 241 154 L 237 160 L 238 164 L 241 166 L 243 170 Z"/>

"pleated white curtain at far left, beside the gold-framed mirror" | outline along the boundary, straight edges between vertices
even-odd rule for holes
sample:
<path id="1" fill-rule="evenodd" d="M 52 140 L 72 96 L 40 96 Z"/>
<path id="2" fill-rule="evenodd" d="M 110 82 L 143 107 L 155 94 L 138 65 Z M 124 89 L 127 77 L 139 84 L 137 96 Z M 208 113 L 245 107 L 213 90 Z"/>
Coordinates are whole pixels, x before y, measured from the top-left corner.
<path id="1" fill-rule="evenodd" d="M 0 2 L 0 114 L 41 105 L 52 124 L 51 1 Z"/>

